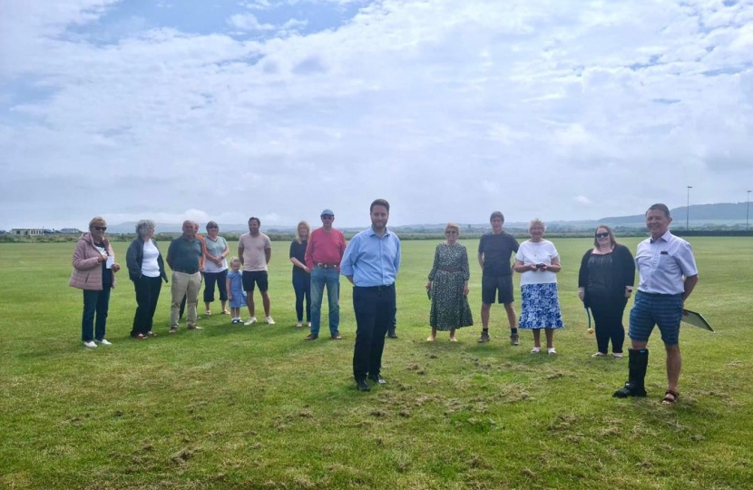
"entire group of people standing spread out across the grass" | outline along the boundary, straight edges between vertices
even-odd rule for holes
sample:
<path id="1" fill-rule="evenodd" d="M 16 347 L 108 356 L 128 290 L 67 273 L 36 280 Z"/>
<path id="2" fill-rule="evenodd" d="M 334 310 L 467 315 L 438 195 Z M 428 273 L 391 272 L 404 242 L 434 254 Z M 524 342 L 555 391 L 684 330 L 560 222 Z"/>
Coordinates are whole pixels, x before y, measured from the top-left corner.
<path id="1" fill-rule="evenodd" d="M 321 228 L 311 231 L 307 222 L 298 223 L 296 240 L 290 244 L 289 252 L 297 327 L 303 327 L 305 314 L 309 328 L 306 340 L 316 340 L 319 336 L 325 289 L 330 338 L 342 339 L 339 332 L 340 275 L 353 285 L 357 322 L 353 375 L 361 391 L 370 389 L 368 380 L 386 383 L 381 375 L 381 358 L 385 338 L 396 337 L 395 281 L 400 268 L 400 240 L 386 227 L 389 203 L 382 199 L 373 201 L 369 216 L 371 226 L 346 244 L 343 233 L 332 226 L 334 212 L 324 210 Z M 689 243 L 670 233 L 670 222 L 670 211 L 664 204 L 654 204 L 646 211 L 646 226 L 651 237 L 641 241 L 635 259 L 627 247 L 615 240 L 610 227 L 599 225 L 594 233 L 593 248 L 582 258 L 578 295 L 584 307 L 592 310 L 595 320 L 597 352 L 594 358 L 606 357 L 610 342 L 612 357 L 622 358 L 622 315 L 634 289 L 636 264 L 639 271 L 638 292 L 630 314 L 629 379 L 614 397 L 646 396 L 643 381 L 648 367 L 646 346 L 654 326 L 660 329 L 667 353 L 668 386 L 662 403 L 672 404 L 680 397 L 680 320 L 684 301 L 698 282 L 698 269 Z M 494 211 L 490 223 L 492 230 L 479 240 L 477 255 L 482 269 L 482 333 L 478 341 L 490 340 L 491 306 L 498 302 L 504 305 L 514 346 L 520 343 L 518 328 L 531 329 L 531 352 L 541 352 L 543 329 L 547 353 L 556 354 L 553 332 L 564 326 L 557 292 L 557 273 L 562 266 L 553 243 L 543 239 L 543 221 L 536 219 L 529 223 L 531 238 L 523 243 L 503 230 L 502 212 Z M 171 240 L 167 259 L 162 260 L 152 238 L 154 222 L 139 221 L 138 236 L 126 253 L 137 302 L 131 336 L 145 339 L 156 335 L 152 331 L 153 316 L 161 283 L 168 282 L 164 261 L 172 270 L 171 333 L 178 329 L 181 303 L 188 307 L 187 328 L 200 328 L 197 304 L 202 276 L 206 315 L 211 314 L 216 286 L 220 292 L 221 314 L 230 314 L 232 323 L 243 323 L 240 309 L 246 306 L 249 320 L 244 324 L 257 322 L 253 294 L 258 287 L 266 322 L 273 325 L 267 269 L 271 241 L 260 232 L 260 225 L 259 218 L 249 219 L 249 232 L 240 236 L 238 257 L 230 260 L 229 271 L 226 258 L 230 250 L 227 241 L 218 235 L 216 222 L 210 221 L 207 236 L 201 237 L 197 234 L 198 223 L 184 221 L 181 236 Z M 87 348 L 110 344 L 104 338 L 107 310 L 110 289 L 115 285 L 115 272 L 120 265 L 114 261 L 112 246 L 104 237 L 106 229 L 102 217 L 93 218 L 89 232 L 83 234 L 73 252 L 70 285 L 83 289 L 82 340 Z M 431 299 L 428 341 L 435 341 L 437 331 L 449 331 L 450 341 L 456 341 L 457 328 L 473 325 L 467 299 L 468 254 L 465 246 L 458 242 L 459 236 L 460 228 L 455 223 L 447 224 L 445 241 L 435 249 L 434 263 L 425 285 Z M 521 274 L 520 319 L 516 319 L 513 308 L 513 272 Z M 226 309 L 228 302 L 230 311 Z"/>

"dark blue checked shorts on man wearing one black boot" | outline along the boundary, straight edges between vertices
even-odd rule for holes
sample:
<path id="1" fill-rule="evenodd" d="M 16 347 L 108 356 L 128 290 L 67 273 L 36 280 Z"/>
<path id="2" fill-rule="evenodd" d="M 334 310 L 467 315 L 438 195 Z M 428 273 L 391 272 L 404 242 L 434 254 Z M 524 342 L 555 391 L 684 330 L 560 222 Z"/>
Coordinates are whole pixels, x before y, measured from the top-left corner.
<path id="1" fill-rule="evenodd" d="M 633 340 L 648 341 L 654 325 L 659 327 L 661 340 L 668 346 L 680 343 L 682 295 L 654 296 L 638 291 L 631 309 L 628 335 Z"/>

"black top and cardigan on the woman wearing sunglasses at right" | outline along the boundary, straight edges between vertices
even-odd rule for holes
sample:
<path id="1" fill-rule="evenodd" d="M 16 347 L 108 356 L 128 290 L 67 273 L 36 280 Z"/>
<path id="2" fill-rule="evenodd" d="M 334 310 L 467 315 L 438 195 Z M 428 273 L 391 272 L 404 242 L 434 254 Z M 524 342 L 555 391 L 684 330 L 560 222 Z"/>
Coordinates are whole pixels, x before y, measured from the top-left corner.
<path id="1" fill-rule="evenodd" d="M 589 297 L 624 298 L 625 286 L 635 284 L 635 260 L 624 245 L 603 255 L 589 249 L 581 260 L 578 287 L 585 289 L 583 303 L 589 306 Z"/>

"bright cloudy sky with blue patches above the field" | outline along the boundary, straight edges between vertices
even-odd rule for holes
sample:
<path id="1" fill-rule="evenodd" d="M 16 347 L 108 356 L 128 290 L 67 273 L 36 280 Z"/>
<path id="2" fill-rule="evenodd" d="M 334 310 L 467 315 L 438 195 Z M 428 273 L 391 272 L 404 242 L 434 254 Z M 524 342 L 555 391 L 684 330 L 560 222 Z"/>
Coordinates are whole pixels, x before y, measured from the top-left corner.
<path id="1" fill-rule="evenodd" d="M 0 0 L 0 171 L 5 230 L 746 201 L 753 0 Z"/>

